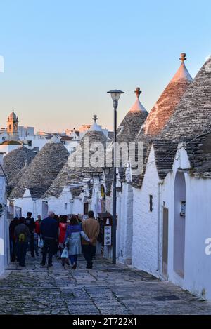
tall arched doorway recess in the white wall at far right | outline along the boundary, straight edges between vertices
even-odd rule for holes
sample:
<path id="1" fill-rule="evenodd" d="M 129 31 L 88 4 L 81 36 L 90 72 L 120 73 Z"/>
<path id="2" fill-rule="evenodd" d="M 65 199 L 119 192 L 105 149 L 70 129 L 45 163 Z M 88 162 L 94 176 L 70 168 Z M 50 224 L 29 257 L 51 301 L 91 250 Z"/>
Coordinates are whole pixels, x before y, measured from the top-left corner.
<path id="1" fill-rule="evenodd" d="M 177 171 L 174 182 L 174 271 L 184 278 L 186 181 Z"/>

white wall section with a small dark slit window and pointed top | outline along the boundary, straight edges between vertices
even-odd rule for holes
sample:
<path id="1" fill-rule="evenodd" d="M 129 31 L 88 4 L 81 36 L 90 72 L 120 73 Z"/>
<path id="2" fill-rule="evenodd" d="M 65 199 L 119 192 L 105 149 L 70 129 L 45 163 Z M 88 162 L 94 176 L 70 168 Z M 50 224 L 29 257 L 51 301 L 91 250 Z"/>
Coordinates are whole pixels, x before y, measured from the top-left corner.
<path id="1" fill-rule="evenodd" d="M 148 163 L 154 161 L 153 147 Z M 134 188 L 132 266 L 158 274 L 158 172 L 155 162 L 146 168 L 141 189 Z M 153 211 L 150 211 L 149 196 L 153 196 Z"/>

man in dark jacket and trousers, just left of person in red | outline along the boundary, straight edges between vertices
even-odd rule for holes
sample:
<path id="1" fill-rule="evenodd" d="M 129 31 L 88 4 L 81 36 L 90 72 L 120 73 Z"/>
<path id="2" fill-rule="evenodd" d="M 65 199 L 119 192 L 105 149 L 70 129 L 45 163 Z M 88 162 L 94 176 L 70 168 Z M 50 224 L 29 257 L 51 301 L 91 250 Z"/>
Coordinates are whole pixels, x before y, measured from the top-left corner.
<path id="1" fill-rule="evenodd" d="M 52 266 L 55 243 L 56 239 L 58 239 L 58 223 L 52 211 L 49 211 L 49 217 L 41 221 L 40 232 L 44 241 L 41 265 L 44 266 L 46 264 L 46 255 L 49 251 L 48 266 Z"/>

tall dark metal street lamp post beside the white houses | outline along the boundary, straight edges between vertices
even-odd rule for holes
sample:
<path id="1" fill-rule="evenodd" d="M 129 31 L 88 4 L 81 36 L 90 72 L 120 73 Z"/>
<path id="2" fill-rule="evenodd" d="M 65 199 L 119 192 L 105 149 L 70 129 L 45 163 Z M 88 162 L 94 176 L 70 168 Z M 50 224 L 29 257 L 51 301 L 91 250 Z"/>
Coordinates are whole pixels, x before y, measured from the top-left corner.
<path id="1" fill-rule="evenodd" d="M 117 106 L 120 95 L 124 94 L 121 90 L 110 90 L 108 93 L 113 99 L 114 109 L 114 122 L 113 122 L 113 222 L 112 222 L 112 240 L 113 240 L 113 264 L 116 264 L 116 218 L 117 218 L 117 170 L 116 170 L 116 159 L 117 159 Z"/>

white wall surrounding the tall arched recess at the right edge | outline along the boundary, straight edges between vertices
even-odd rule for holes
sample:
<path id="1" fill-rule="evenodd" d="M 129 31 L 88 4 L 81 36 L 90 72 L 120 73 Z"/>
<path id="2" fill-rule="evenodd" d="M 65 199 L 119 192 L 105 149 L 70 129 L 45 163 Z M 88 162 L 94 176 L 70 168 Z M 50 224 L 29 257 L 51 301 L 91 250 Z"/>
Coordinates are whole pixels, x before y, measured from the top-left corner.
<path id="1" fill-rule="evenodd" d="M 174 180 L 178 168 L 188 168 L 188 156 L 184 149 L 174 160 L 173 173 L 169 173 L 162 185 L 160 205 L 169 209 L 168 278 L 192 293 L 211 300 L 211 255 L 205 253 L 205 240 L 211 238 L 211 180 L 191 177 L 186 180 L 186 234 L 184 278 L 174 272 Z M 210 248 L 211 250 L 211 248 Z"/>

